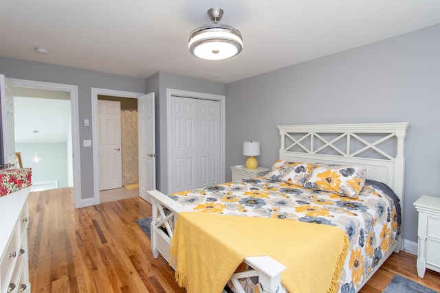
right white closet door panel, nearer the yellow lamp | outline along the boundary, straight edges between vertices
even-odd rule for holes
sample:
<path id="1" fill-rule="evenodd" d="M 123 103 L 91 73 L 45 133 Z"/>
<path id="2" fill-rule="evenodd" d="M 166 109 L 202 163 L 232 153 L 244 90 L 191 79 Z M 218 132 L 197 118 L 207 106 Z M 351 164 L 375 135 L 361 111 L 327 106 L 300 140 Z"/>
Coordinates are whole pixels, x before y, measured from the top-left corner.
<path id="1" fill-rule="evenodd" d="M 199 187 L 221 183 L 220 102 L 197 100 Z"/>

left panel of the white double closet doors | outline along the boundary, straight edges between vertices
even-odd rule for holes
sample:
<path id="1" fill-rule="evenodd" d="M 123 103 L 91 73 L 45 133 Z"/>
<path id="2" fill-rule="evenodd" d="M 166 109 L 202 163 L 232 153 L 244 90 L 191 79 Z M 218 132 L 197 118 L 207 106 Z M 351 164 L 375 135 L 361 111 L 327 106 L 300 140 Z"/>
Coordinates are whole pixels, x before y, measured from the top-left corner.
<path id="1" fill-rule="evenodd" d="M 171 97 L 173 192 L 197 186 L 197 99 Z"/>

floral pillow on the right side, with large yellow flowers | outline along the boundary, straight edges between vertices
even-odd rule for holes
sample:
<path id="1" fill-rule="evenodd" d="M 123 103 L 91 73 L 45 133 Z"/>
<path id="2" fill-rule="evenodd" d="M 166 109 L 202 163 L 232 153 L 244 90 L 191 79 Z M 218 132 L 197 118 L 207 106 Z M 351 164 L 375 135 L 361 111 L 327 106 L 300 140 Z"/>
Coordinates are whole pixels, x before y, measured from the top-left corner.
<path id="1" fill-rule="evenodd" d="M 355 198 L 364 187 L 365 179 L 366 169 L 364 167 L 316 163 L 304 187 Z"/>

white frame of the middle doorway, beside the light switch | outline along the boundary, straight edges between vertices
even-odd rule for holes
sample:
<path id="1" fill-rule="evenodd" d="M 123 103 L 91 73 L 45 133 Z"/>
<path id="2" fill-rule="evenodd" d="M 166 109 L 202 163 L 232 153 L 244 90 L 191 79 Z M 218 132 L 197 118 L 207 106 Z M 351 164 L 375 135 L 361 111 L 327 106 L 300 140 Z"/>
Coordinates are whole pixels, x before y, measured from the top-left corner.
<path id="1" fill-rule="evenodd" d="M 118 91 L 113 89 L 91 88 L 91 148 L 94 167 L 94 203 L 100 203 L 99 196 L 99 156 L 98 156 L 98 95 L 110 95 L 113 97 L 131 97 L 137 99 L 145 95 L 132 91 Z"/>

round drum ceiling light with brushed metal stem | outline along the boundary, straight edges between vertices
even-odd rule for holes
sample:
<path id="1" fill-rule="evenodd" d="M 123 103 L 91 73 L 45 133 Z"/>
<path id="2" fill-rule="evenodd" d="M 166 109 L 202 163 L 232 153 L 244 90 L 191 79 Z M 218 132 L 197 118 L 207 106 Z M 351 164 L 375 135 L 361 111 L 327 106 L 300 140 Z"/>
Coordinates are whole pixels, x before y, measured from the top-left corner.
<path id="1" fill-rule="evenodd" d="M 217 23 L 223 16 L 221 8 L 211 8 L 208 15 L 213 22 L 212 25 L 197 27 L 190 34 L 190 53 L 206 60 L 223 60 L 239 54 L 243 49 L 243 39 L 239 30 Z"/>

